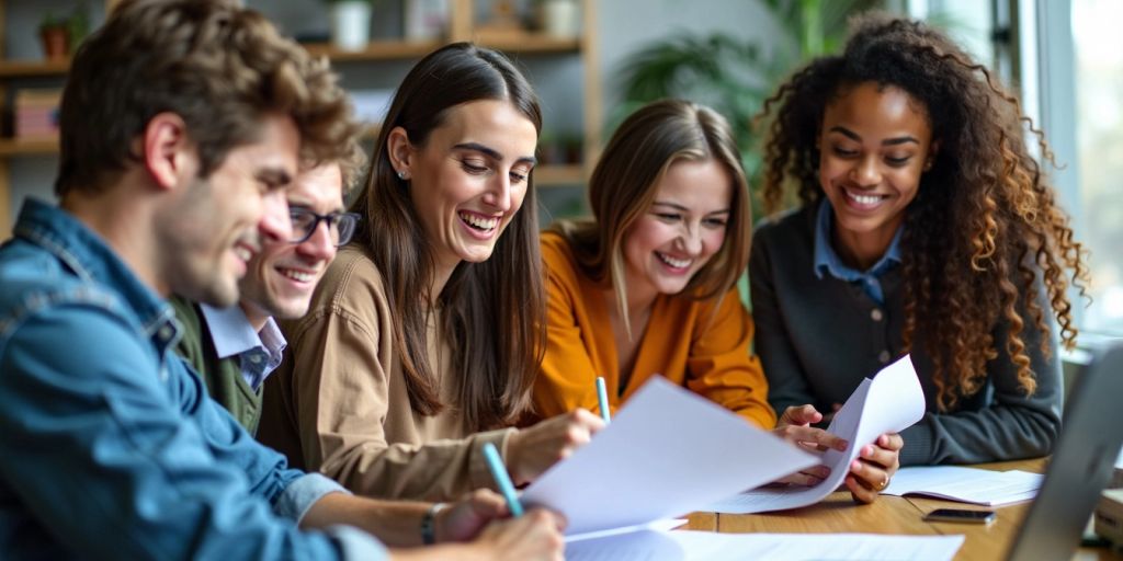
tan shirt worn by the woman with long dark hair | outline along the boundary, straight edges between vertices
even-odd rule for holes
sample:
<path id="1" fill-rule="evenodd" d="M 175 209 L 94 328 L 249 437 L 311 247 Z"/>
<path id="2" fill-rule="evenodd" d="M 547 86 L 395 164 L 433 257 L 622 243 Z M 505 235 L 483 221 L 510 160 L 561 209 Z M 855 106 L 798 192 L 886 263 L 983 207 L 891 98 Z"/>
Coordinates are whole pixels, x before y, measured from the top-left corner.
<path id="1" fill-rule="evenodd" d="M 293 467 L 319 470 L 367 496 L 455 499 L 495 488 L 482 447 L 505 457 L 512 429 L 472 434 L 453 395 L 451 349 L 430 323 L 429 364 L 446 407 L 410 407 L 382 275 L 362 250 L 340 250 L 308 314 L 282 322 L 289 351 L 266 380 L 257 438 Z"/>

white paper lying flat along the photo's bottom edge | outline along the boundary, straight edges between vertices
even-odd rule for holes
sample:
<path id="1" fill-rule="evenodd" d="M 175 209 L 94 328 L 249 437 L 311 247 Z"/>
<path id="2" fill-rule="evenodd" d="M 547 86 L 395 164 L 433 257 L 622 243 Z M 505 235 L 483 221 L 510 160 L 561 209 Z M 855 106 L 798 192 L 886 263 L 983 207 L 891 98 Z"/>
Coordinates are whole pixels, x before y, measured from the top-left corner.
<path id="1" fill-rule="evenodd" d="M 633 532 L 566 544 L 567 561 L 949 561 L 962 535 Z"/>

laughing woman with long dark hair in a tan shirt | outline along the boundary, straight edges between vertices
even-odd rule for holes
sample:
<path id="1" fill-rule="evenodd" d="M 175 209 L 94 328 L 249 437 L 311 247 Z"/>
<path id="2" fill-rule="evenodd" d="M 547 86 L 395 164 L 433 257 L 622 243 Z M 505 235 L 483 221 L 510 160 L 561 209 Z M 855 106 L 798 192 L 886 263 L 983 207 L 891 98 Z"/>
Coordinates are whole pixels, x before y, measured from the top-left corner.
<path id="1" fill-rule="evenodd" d="M 359 494 L 444 500 L 495 487 L 485 443 L 519 485 L 602 426 L 577 411 L 510 427 L 542 352 L 540 129 L 533 90 L 494 50 L 453 44 L 413 67 L 351 206 L 359 231 L 283 324 L 293 350 L 265 389 L 264 442 Z"/>

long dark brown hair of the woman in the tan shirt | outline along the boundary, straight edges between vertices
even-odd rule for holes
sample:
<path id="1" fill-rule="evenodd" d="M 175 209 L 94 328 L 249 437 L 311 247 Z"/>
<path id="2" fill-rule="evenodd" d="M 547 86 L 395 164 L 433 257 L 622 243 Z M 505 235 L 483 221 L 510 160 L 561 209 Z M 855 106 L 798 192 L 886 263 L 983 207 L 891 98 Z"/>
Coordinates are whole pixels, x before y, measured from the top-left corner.
<path id="1" fill-rule="evenodd" d="M 451 405 L 467 427 L 513 424 L 530 405 L 530 388 L 546 341 L 545 295 L 538 247 L 538 200 L 532 176 L 515 213 L 483 263 L 460 263 L 437 295 L 441 337 L 451 341 L 456 403 L 440 401 L 428 360 L 427 324 L 432 302 L 433 248 L 410 196 L 390 163 L 386 140 L 394 127 L 423 146 L 448 112 L 480 100 L 510 102 L 541 131 L 538 98 L 502 54 L 468 43 L 447 45 L 421 59 L 394 94 L 371 162 L 367 188 L 351 205 L 365 218 L 351 243 L 382 273 L 393 313 L 394 344 L 410 406 L 435 415 Z M 418 201 L 418 204 L 423 202 Z"/>

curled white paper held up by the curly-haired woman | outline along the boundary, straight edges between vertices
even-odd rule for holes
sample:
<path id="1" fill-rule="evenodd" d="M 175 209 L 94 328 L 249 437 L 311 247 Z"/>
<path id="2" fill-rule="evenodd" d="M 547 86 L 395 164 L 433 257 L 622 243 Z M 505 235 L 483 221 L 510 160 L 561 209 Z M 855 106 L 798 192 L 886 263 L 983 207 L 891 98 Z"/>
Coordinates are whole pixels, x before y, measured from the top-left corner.
<path id="1" fill-rule="evenodd" d="M 813 505 L 842 484 L 850 462 L 866 444 L 886 432 L 901 432 L 924 416 L 924 392 L 907 355 L 877 373 L 874 379 L 861 380 L 858 388 L 834 414 L 828 432 L 850 443 L 846 451 L 828 450 L 821 462 L 831 475 L 814 487 L 767 487 L 752 489 L 719 503 L 707 509 L 728 514 L 764 513 Z"/>

